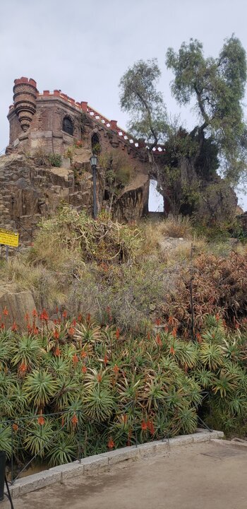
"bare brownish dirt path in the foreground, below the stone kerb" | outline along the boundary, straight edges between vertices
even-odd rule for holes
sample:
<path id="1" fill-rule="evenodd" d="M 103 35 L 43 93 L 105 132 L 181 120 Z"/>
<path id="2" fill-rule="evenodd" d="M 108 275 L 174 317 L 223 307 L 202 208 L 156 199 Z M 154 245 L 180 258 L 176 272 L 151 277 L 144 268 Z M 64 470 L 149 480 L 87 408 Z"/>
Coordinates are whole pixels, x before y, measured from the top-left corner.
<path id="1" fill-rule="evenodd" d="M 247 451 L 198 443 L 69 479 L 13 501 L 15 509 L 246 509 Z M 9 509 L 8 501 L 0 509 Z"/>

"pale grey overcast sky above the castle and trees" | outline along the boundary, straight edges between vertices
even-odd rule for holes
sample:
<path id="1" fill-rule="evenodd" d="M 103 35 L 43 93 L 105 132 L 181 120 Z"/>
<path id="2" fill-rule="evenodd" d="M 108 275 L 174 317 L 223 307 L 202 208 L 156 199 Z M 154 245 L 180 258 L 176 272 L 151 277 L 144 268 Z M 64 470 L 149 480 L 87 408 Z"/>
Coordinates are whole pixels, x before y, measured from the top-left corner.
<path id="1" fill-rule="evenodd" d="M 0 151 L 8 144 L 13 80 L 28 76 L 38 90 L 61 89 L 125 128 L 119 79 L 138 59 L 157 57 L 167 110 L 178 113 L 165 68 L 169 46 L 196 37 L 217 56 L 235 33 L 247 49 L 247 0 L 0 0 Z M 181 110 L 188 127 L 193 113 Z M 245 208 L 247 209 L 247 199 Z"/>

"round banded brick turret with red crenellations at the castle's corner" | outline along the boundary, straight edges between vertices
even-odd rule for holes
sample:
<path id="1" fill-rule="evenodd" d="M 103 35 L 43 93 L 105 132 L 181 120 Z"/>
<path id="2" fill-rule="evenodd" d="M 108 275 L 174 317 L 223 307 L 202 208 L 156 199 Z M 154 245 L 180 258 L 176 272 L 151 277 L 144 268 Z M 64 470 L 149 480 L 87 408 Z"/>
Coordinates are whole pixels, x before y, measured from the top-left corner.
<path id="1" fill-rule="evenodd" d="M 15 80 L 13 87 L 13 104 L 20 126 L 27 131 L 36 112 L 37 88 L 36 81 L 32 78 L 19 78 Z"/>

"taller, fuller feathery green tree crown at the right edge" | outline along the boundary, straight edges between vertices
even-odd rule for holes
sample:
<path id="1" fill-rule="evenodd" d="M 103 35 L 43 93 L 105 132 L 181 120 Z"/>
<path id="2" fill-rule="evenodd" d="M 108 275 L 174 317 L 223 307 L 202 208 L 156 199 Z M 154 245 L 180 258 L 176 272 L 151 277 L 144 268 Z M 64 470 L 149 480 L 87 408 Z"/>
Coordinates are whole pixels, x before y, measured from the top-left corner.
<path id="1" fill-rule="evenodd" d="M 205 58 L 203 45 L 191 39 L 179 52 L 167 50 L 168 69 L 174 72 L 171 91 L 181 105 L 195 100 L 200 124 L 200 145 L 212 136 L 221 158 L 221 168 L 231 182 L 238 182 L 246 166 L 246 125 L 242 100 L 246 85 L 246 52 L 232 35 L 217 58 Z"/>

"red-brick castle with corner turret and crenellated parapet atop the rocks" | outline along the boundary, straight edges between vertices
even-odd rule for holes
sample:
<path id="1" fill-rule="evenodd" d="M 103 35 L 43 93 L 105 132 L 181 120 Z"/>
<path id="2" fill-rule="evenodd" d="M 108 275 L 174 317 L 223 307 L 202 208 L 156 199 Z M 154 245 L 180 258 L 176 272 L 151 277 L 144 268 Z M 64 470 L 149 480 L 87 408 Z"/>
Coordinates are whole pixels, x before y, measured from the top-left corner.
<path id="1" fill-rule="evenodd" d="M 32 78 L 26 78 L 25 76 L 17 78 L 14 81 L 13 93 L 13 105 L 9 107 L 8 112 L 10 122 L 8 151 L 16 149 L 19 144 L 28 146 L 32 151 L 32 148 L 35 148 L 36 145 L 31 139 L 37 139 L 37 131 L 39 131 L 39 139 L 44 138 L 42 140 L 43 148 L 47 146 L 49 151 L 55 151 L 56 149 L 59 153 L 64 153 L 68 148 L 66 145 L 71 143 L 66 135 L 69 134 L 76 139 L 81 139 L 78 124 L 80 124 L 82 114 L 88 116 L 94 129 L 103 130 L 104 134 L 108 131 L 109 137 L 114 137 L 114 146 L 119 143 L 122 150 L 128 148 L 128 146 L 135 150 L 145 147 L 143 141 L 133 139 L 127 131 L 117 125 L 116 120 L 108 119 L 88 105 L 87 101 L 79 103 L 66 93 L 61 92 L 61 90 L 43 90 L 40 93 L 37 90 L 36 81 Z M 68 117 L 67 122 L 64 122 L 66 116 Z M 71 129 L 68 127 L 70 122 Z M 28 136 L 23 136 L 23 131 L 24 133 L 27 132 Z M 49 137 L 55 137 L 57 140 L 59 133 L 60 138 L 63 139 L 60 146 L 56 141 L 55 144 L 50 144 Z M 164 152 L 164 147 L 161 145 L 155 148 L 154 152 L 158 155 Z"/>

